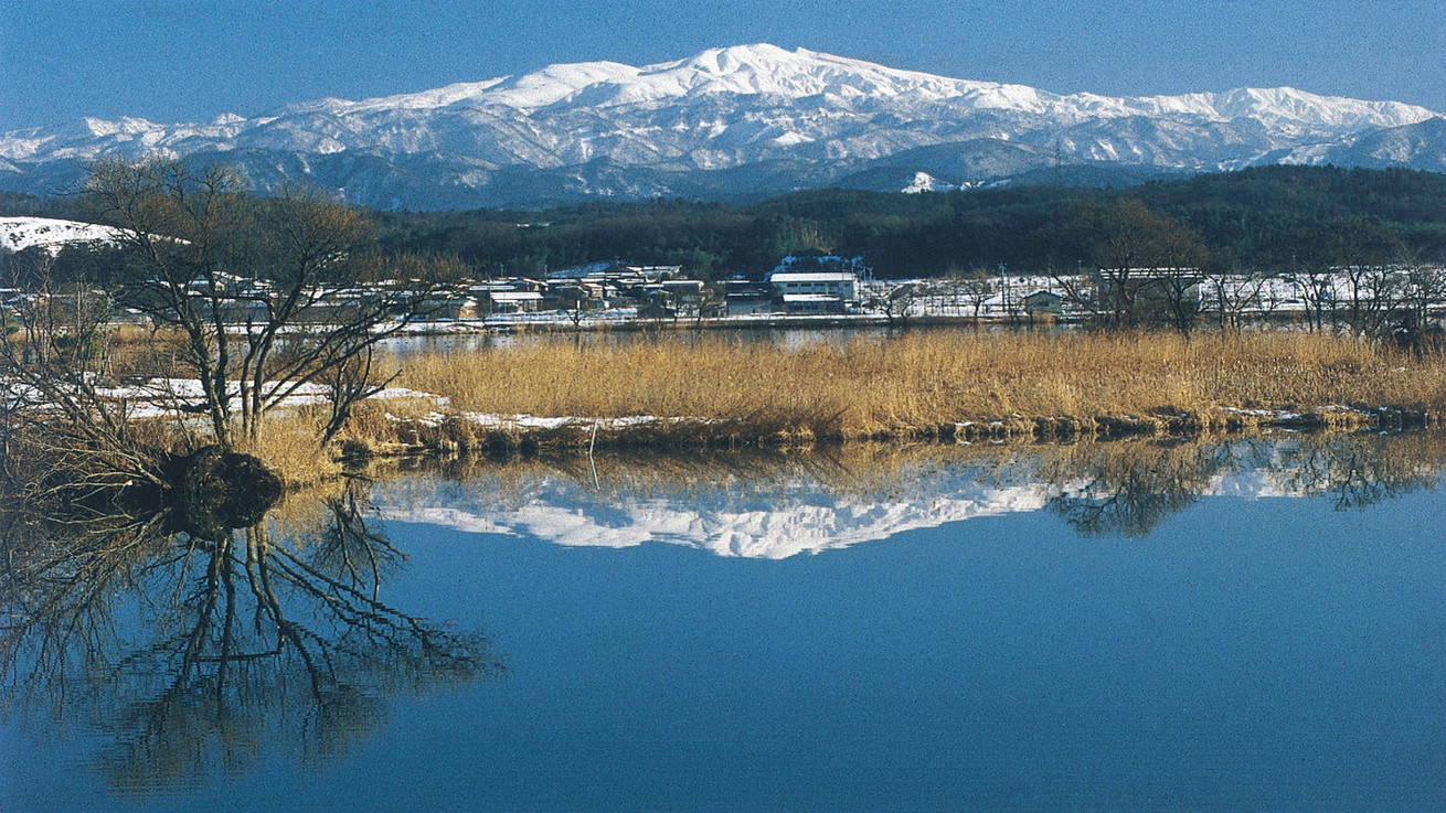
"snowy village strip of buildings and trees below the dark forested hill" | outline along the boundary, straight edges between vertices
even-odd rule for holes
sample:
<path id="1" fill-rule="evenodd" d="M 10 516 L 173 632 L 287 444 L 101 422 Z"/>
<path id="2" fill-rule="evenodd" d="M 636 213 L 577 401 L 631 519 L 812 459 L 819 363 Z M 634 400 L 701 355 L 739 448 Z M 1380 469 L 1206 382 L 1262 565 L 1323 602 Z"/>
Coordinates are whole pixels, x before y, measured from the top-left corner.
<path id="1" fill-rule="evenodd" d="M 226 276 L 217 299 L 223 322 L 265 321 L 266 280 Z M 309 292 L 307 318 L 344 323 L 405 280 Z M 421 286 L 419 286 L 421 287 Z M 33 312 L 40 296 L 0 289 L 6 313 Z M 111 323 L 145 322 L 111 308 L 103 290 L 49 293 L 51 309 L 100 308 Z M 706 282 L 681 266 L 599 261 L 539 277 L 466 280 L 431 290 L 411 309 L 416 332 L 536 328 L 622 328 L 669 322 L 694 325 L 775 323 L 784 319 L 840 323 L 910 321 L 1074 322 L 1099 318 L 1122 300 L 1131 308 L 1225 323 L 1267 318 L 1325 319 L 1355 309 L 1387 318 L 1437 319 L 1446 308 L 1446 269 L 1332 269 L 1313 274 L 1206 274 L 1196 269 L 1095 270 L 1076 276 L 973 274 L 921 280 L 873 279 L 863 258 L 791 256 L 762 279 Z M 416 318 L 415 315 L 419 315 Z"/>

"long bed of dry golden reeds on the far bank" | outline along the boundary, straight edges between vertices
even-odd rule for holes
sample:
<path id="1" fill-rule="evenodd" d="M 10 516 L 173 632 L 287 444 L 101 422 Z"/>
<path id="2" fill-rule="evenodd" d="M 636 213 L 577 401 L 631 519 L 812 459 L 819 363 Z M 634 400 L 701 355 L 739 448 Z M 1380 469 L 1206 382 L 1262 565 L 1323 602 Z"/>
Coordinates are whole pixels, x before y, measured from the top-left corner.
<path id="1" fill-rule="evenodd" d="M 373 406 L 357 416 L 359 442 L 469 449 L 1058 438 L 1394 426 L 1446 414 L 1446 360 L 1296 332 L 1186 339 L 936 331 L 798 348 L 664 339 L 437 354 L 399 367 L 399 384 L 447 396 L 442 416 L 428 404 L 388 404 L 390 417 Z M 480 426 L 467 413 L 583 420 L 523 432 Z M 594 438 L 590 420 L 629 416 L 681 420 Z"/>

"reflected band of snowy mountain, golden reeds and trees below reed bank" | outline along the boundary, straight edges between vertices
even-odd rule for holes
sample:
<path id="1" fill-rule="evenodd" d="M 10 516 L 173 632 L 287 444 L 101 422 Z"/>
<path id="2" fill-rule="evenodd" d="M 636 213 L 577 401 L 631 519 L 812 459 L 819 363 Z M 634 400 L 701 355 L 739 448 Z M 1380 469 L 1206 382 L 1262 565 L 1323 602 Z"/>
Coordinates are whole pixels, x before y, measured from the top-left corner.
<path id="1" fill-rule="evenodd" d="M 784 559 L 977 517 L 1048 510 L 1080 534 L 1148 534 L 1199 497 L 1329 495 L 1362 507 L 1430 487 L 1446 438 L 1288 435 L 1067 446 L 843 446 L 596 462 L 454 464 L 373 491 L 389 520 L 564 546 L 664 542 Z"/>

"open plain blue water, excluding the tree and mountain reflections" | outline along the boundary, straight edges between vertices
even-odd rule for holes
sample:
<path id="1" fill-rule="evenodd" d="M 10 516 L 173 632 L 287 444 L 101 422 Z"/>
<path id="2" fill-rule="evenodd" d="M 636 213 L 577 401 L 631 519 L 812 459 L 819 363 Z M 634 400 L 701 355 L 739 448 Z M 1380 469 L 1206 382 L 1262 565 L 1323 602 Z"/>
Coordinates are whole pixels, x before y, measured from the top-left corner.
<path id="1" fill-rule="evenodd" d="M 1446 810 L 1446 495 L 1338 503 L 1200 495 L 1135 536 L 1015 510 L 782 559 L 386 520 L 390 602 L 484 631 L 500 676 L 126 790 L 94 719 L 22 706 L 0 809 Z"/>

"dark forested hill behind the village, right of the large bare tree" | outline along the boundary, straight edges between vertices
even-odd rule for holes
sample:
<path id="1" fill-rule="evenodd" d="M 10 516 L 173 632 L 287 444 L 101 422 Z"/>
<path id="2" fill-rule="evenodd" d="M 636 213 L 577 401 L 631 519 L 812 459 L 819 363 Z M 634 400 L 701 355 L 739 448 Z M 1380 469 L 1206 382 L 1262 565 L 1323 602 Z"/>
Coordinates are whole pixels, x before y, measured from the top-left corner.
<path id="1" fill-rule="evenodd" d="M 1001 264 L 1073 267 L 1087 261 L 1080 228 L 1128 199 L 1193 231 L 1218 267 L 1446 261 L 1446 175 L 1401 169 L 1270 166 L 1124 189 L 824 189 L 752 205 L 662 199 L 377 218 L 386 243 L 455 254 L 480 273 L 535 274 L 620 258 L 683 264 L 707 277 L 756 276 L 787 254 L 830 253 L 863 256 L 878 276 L 912 277 Z"/>

